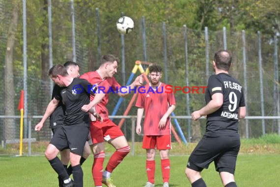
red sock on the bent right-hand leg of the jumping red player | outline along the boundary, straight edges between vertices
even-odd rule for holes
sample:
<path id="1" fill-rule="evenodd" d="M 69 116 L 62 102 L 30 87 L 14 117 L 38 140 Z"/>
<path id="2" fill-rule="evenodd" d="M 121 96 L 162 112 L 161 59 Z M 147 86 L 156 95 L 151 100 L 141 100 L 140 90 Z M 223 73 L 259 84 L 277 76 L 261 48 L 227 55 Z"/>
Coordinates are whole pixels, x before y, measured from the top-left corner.
<path id="1" fill-rule="evenodd" d="M 130 147 L 129 146 L 125 146 L 123 148 L 120 148 L 118 150 L 116 150 L 114 152 L 114 154 L 111 156 L 107 167 L 106 167 L 106 171 L 112 173 L 112 171 L 114 170 L 114 168 L 116 168 L 116 166 L 123 160 L 123 158 L 125 156 L 127 156 L 127 154 L 130 151 Z"/>

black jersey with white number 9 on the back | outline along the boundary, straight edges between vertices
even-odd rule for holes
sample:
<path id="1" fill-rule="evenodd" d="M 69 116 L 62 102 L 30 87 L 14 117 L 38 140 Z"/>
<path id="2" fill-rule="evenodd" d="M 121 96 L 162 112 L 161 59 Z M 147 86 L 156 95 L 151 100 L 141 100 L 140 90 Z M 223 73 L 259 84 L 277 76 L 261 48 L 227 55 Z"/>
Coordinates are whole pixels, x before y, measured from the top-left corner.
<path id="1" fill-rule="evenodd" d="M 245 99 L 241 84 L 226 73 L 212 75 L 208 79 L 205 92 L 206 104 L 212 95 L 222 93 L 223 105 L 217 111 L 207 115 L 207 136 L 238 135 L 238 110 L 245 106 Z"/>

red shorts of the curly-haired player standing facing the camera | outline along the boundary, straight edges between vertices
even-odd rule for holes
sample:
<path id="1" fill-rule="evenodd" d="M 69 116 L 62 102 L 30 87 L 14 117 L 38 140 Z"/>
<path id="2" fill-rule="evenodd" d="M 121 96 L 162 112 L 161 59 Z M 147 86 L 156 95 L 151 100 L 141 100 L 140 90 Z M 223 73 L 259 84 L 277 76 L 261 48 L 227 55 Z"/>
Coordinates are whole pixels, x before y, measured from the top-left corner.
<path id="1" fill-rule="evenodd" d="M 146 136 L 143 138 L 143 149 L 171 149 L 171 135 Z"/>

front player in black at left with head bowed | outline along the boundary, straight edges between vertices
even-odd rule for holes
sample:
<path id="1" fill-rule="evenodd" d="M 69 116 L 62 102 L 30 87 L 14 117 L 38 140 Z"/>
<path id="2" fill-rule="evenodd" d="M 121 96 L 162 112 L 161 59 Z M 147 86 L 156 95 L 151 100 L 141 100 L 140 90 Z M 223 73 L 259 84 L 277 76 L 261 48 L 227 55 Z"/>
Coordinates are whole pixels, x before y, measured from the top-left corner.
<path id="1" fill-rule="evenodd" d="M 82 111 L 82 106 L 89 103 L 88 93 L 94 94 L 94 92 L 92 92 L 92 86 L 86 80 L 71 77 L 63 65 L 53 66 L 48 74 L 59 87 L 62 87 L 60 93 L 54 95 L 54 98 L 63 101 L 65 115 L 63 124 L 56 129 L 45 156 L 59 178 L 63 180 L 63 186 L 72 187 L 73 181 L 69 178 L 57 157 L 59 150 L 70 149 L 70 162 L 75 187 L 83 187 L 83 170 L 80 165 L 80 159 L 89 133 L 89 116 Z M 89 112 L 99 120 L 102 120 L 93 109 Z"/>

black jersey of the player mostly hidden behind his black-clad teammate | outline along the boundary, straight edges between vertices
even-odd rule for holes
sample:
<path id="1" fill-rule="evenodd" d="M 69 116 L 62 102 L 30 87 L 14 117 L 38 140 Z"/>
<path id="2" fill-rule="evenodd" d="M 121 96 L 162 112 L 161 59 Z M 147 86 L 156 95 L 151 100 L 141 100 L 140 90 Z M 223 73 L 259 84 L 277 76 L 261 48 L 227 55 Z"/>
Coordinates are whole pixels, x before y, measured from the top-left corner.
<path id="1" fill-rule="evenodd" d="M 55 97 L 55 95 L 60 94 L 60 91 L 64 88 L 65 87 L 61 88 L 55 84 L 53 89 L 52 99 Z M 65 114 L 65 106 L 60 100 L 58 106 L 56 107 L 56 110 L 50 116 L 50 128 L 56 128 L 59 125 L 62 125 L 64 114 Z"/>

